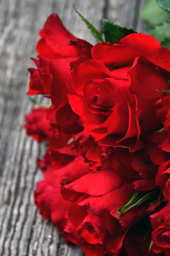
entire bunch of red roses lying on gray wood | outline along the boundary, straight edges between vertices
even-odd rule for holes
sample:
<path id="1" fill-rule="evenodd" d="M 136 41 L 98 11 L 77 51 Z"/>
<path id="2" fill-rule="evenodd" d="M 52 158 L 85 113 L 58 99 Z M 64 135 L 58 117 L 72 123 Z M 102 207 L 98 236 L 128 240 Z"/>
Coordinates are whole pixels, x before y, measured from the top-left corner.
<path id="1" fill-rule="evenodd" d="M 40 37 L 28 95 L 51 106 L 25 128 L 48 141 L 42 218 L 87 256 L 170 256 L 170 51 L 140 33 L 92 46 L 57 14 Z"/>

